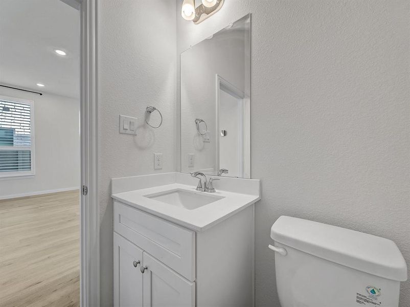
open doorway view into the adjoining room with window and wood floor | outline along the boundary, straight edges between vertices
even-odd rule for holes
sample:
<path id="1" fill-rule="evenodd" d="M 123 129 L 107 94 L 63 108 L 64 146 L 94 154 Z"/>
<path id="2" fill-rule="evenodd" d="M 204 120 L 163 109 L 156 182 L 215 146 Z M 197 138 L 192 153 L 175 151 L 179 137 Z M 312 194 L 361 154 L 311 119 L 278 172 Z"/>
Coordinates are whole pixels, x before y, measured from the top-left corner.
<path id="1" fill-rule="evenodd" d="M 0 6 L 0 306 L 79 306 L 80 11 Z"/>

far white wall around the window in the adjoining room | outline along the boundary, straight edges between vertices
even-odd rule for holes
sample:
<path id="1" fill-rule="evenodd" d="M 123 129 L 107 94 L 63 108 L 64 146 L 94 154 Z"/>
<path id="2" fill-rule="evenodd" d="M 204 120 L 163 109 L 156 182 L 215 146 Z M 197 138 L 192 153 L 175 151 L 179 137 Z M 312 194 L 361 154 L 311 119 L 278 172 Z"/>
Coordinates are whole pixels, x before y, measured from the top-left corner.
<path id="1" fill-rule="evenodd" d="M 0 198 L 80 187 L 80 102 L 0 87 L 0 95 L 34 101 L 35 171 L 33 178 L 0 180 Z"/>

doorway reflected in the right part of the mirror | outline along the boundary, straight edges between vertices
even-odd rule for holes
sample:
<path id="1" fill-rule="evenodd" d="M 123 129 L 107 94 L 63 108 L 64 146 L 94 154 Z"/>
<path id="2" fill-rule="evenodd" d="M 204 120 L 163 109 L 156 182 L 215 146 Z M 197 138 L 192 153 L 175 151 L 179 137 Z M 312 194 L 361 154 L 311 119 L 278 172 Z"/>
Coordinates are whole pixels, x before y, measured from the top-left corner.
<path id="1" fill-rule="evenodd" d="M 249 98 L 217 75 L 217 169 L 227 176 L 249 178 Z"/>

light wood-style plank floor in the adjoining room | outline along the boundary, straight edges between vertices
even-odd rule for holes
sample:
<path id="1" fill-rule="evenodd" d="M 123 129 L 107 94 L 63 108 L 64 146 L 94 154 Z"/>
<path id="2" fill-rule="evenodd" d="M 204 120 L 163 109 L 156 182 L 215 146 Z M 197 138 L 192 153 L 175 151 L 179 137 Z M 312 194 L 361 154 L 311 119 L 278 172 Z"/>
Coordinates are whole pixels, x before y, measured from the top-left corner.
<path id="1" fill-rule="evenodd" d="M 80 305 L 79 191 L 0 200 L 0 307 Z"/>

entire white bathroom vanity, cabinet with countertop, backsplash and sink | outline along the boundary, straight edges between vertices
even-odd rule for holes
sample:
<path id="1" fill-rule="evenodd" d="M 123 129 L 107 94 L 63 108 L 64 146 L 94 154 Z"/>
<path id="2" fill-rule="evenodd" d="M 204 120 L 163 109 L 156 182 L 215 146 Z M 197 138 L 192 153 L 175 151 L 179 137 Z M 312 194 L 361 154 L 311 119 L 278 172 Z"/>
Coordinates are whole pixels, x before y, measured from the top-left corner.
<path id="1" fill-rule="evenodd" d="M 112 179 L 115 306 L 252 306 L 260 182 L 187 173 Z"/>

